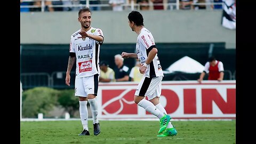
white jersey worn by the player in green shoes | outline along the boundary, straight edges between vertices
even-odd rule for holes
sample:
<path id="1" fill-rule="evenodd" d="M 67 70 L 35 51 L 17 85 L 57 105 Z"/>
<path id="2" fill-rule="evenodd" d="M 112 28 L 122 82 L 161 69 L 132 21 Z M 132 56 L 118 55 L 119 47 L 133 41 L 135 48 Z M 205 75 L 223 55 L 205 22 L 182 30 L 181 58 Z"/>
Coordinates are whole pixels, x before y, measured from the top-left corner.
<path id="1" fill-rule="evenodd" d="M 153 47 L 156 47 L 154 37 L 148 29 L 142 28 L 140 34 L 138 35 L 136 45 L 136 51 L 141 65 L 145 63 L 146 59 L 148 58 L 148 53 L 150 52 L 150 50 L 153 49 Z M 144 76 L 164 76 L 157 54 L 155 58 L 149 63 L 149 66 L 145 71 Z"/>

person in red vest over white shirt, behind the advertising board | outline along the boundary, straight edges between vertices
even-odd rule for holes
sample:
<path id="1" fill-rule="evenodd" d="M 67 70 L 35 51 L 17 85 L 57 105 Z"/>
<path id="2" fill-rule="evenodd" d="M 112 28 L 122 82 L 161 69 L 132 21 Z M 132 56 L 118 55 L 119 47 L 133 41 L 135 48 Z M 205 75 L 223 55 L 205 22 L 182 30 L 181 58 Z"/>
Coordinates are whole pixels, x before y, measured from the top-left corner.
<path id="1" fill-rule="evenodd" d="M 210 57 L 208 62 L 205 63 L 204 71 L 201 73 L 199 79 L 197 79 L 199 83 L 203 81 L 206 73 L 209 73 L 208 80 L 222 81 L 224 77 L 223 63 L 214 57 Z"/>

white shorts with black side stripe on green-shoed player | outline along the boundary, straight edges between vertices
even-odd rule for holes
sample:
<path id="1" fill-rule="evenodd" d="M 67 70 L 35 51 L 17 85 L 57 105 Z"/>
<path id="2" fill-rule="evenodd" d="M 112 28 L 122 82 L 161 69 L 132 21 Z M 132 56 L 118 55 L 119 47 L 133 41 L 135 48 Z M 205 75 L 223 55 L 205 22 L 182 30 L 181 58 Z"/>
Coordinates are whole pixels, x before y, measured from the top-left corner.
<path id="1" fill-rule="evenodd" d="M 162 79 L 163 76 L 151 78 L 143 76 L 137 86 L 135 95 L 148 97 L 148 100 L 160 97 L 162 91 Z"/>

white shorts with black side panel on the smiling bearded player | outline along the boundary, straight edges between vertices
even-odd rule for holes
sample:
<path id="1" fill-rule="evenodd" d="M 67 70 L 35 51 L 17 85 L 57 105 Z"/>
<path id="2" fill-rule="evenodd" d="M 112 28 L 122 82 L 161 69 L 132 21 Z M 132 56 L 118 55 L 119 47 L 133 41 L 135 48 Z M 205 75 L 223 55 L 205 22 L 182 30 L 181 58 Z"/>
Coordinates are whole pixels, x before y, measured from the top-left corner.
<path id="1" fill-rule="evenodd" d="M 99 74 L 75 79 L 75 96 L 86 97 L 88 94 L 97 96 L 99 86 Z"/>

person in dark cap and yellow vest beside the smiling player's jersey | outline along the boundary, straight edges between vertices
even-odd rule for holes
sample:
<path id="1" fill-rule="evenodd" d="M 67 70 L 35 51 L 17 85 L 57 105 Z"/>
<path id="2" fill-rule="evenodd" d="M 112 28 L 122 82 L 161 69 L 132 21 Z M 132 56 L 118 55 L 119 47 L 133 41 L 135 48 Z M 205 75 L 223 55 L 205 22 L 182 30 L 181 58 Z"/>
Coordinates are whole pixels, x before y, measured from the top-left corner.
<path id="1" fill-rule="evenodd" d="M 106 61 L 100 62 L 100 82 L 115 82 L 115 72 Z"/>

